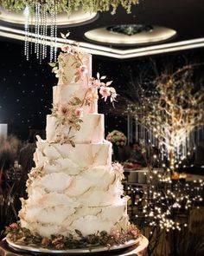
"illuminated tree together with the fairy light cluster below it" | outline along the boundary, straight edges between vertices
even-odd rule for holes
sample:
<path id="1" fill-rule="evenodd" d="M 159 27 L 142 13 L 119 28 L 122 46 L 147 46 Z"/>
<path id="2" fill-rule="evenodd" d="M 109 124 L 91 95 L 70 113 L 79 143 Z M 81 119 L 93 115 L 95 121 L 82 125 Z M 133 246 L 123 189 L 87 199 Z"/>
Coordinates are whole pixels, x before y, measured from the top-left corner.
<path id="1" fill-rule="evenodd" d="M 194 84 L 192 74 L 193 66 L 184 66 L 154 82 L 131 82 L 125 88 L 128 95 L 119 92 L 124 96 L 114 109 L 133 121 L 128 127 L 134 128 L 132 137 L 147 163 L 145 184 L 127 183 L 126 194 L 131 196 L 131 218 L 142 220 L 138 226 L 149 226 L 150 233 L 154 228 L 183 230 L 190 210 L 203 206 L 204 181 L 187 181 L 187 174 L 175 172 L 193 167 L 204 138 L 204 89 Z"/>

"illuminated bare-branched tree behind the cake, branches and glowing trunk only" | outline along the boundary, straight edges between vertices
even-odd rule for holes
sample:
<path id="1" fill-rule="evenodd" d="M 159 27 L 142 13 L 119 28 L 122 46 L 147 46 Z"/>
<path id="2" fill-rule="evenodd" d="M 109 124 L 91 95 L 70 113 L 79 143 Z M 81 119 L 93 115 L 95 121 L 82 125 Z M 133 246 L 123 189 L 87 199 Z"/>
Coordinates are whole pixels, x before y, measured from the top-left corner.
<path id="1" fill-rule="evenodd" d="M 133 116 L 154 135 L 172 168 L 175 158 L 187 154 L 190 132 L 204 124 L 204 88 L 194 83 L 193 68 L 166 70 L 151 88 L 143 81 L 129 85 L 129 95 L 124 95 L 124 104 L 120 104 L 123 107 L 116 110 Z"/>

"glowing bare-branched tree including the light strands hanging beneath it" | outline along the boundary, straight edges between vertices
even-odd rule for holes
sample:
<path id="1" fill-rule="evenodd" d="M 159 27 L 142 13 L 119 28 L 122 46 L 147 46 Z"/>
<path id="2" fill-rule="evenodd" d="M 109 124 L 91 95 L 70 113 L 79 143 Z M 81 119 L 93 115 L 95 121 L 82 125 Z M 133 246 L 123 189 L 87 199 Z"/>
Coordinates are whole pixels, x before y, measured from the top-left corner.
<path id="1" fill-rule="evenodd" d="M 145 145 L 147 158 L 157 149 L 163 167 L 172 172 L 186 166 L 204 137 L 204 87 L 194 82 L 195 67 L 167 69 L 149 82 L 146 78 L 134 82 L 131 77 L 125 90 L 119 91 L 120 104 L 113 110 L 134 123 L 132 136 Z"/>

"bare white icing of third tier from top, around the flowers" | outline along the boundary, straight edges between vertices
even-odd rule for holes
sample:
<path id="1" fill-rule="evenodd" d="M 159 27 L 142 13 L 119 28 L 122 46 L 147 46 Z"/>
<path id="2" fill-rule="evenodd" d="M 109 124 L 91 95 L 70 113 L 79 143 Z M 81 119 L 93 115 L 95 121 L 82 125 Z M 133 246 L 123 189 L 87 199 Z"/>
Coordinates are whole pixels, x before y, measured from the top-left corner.
<path id="1" fill-rule="evenodd" d="M 104 140 L 104 115 L 84 115 L 80 123 L 80 130 L 72 128 L 70 136 L 75 143 L 99 143 Z M 53 115 L 47 115 L 46 137 L 48 141 L 55 141 L 56 135 L 67 135 L 68 125 L 59 125 L 58 119 Z"/>

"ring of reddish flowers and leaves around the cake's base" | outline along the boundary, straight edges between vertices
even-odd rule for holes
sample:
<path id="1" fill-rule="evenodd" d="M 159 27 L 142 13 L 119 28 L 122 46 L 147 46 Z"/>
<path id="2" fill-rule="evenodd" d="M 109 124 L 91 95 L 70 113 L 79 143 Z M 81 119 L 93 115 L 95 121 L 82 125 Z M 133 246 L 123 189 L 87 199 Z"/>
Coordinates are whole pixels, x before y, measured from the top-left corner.
<path id="1" fill-rule="evenodd" d="M 31 233 L 29 229 L 20 226 L 18 223 L 12 223 L 6 227 L 5 233 L 7 234 L 7 238 L 16 245 L 32 245 L 51 250 L 89 248 L 90 252 L 95 246 L 111 248 L 112 246 L 122 245 L 129 240 L 141 238 L 139 229 L 133 224 L 128 225 L 126 230 L 112 229 L 111 233 L 102 231 L 83 236 L 79 230 L 75 230 L 75 236 L 73 234 L 68 234 L 67 237 L 63 235 L 51 235 L 50 238 L 47 238 Z"/>

